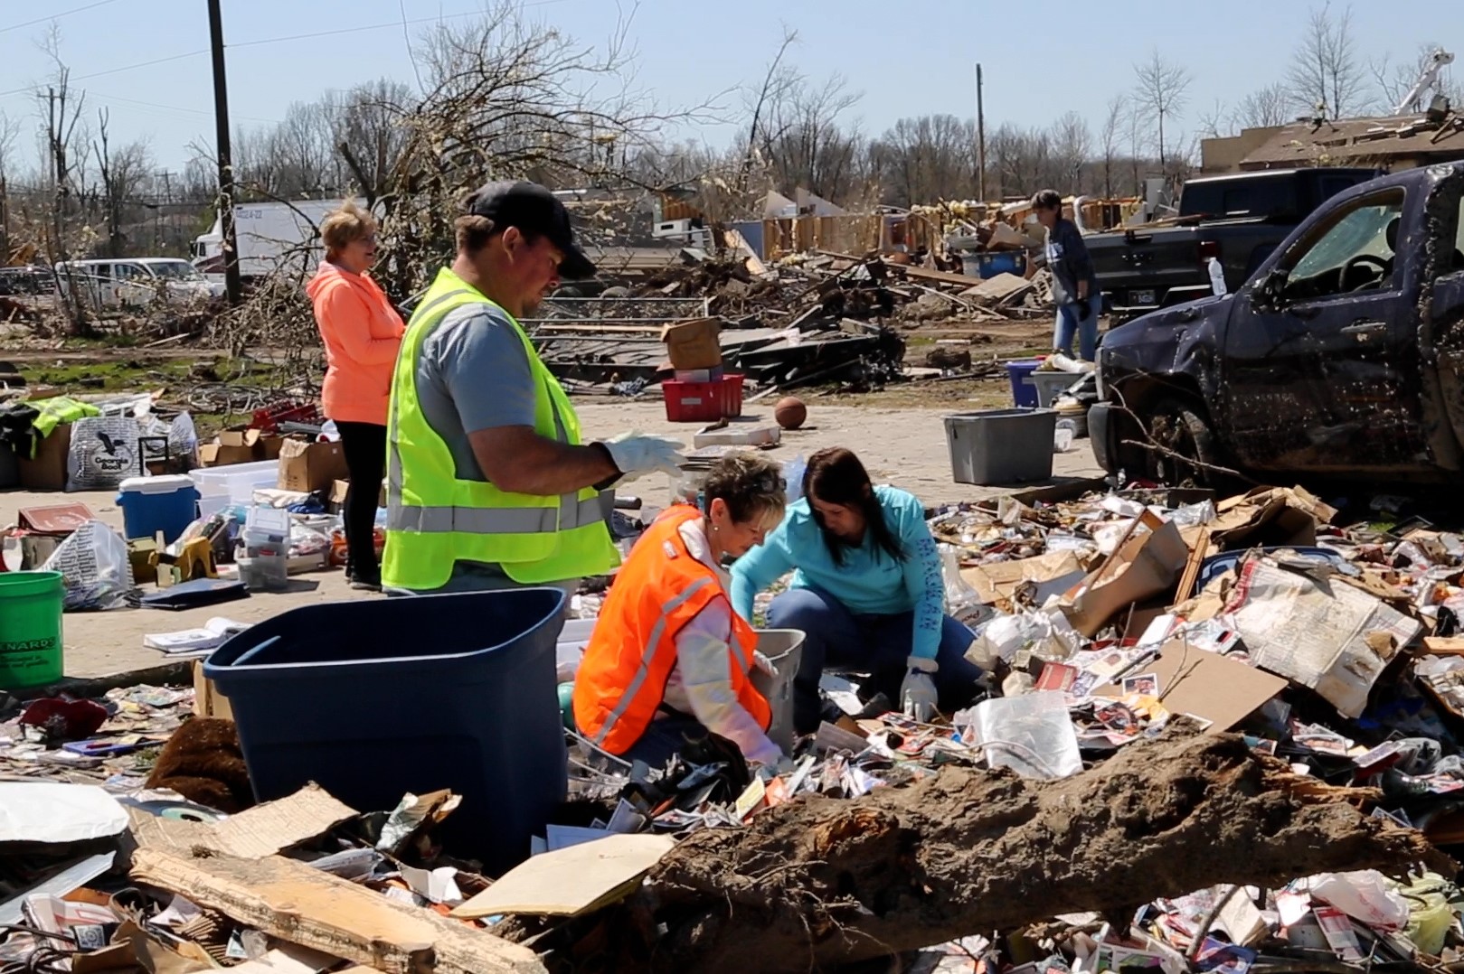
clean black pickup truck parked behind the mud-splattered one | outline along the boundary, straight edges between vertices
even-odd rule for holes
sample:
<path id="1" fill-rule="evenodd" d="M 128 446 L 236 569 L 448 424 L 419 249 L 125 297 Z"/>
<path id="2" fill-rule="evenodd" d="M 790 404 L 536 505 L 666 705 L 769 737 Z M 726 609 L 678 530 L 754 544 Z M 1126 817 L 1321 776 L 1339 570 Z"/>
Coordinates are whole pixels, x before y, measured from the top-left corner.
<path id="1" fill-rule="evenodd" d="M 1268 170 L 1190 180 L 1179 215 L 1085 238 L 1116 322 L 1212 294 L 1209 259 L 1239 288 L 1307 214 L 1381 175 L 1366 168 Z"/>

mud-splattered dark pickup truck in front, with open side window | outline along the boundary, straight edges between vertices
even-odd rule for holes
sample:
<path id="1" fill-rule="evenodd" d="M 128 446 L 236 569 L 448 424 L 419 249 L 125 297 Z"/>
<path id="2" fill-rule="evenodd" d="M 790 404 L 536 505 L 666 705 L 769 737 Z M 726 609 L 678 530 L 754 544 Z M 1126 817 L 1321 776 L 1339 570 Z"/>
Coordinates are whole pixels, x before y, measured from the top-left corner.
<path id="1" fill-rule="evenodd" d="M 1168 483 L 1464 481 L 1464 162 L 1323 203 L 1250 279 L 1108 332 L 1094 453 Z"/>

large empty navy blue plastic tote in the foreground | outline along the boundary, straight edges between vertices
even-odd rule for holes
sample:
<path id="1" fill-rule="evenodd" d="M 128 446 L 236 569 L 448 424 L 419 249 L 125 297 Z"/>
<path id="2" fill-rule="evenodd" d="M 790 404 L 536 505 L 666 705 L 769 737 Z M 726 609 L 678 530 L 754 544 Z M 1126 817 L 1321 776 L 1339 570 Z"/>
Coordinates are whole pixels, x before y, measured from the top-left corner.
<path id="1" fill-rule="evenodd" d="M 490 876 L 564 801 L 558 588 L 322 603 L 255 624 L 203 665 L 261 801 L 309 781 L 359 812 L 451 788 L 441 837 Z"/>

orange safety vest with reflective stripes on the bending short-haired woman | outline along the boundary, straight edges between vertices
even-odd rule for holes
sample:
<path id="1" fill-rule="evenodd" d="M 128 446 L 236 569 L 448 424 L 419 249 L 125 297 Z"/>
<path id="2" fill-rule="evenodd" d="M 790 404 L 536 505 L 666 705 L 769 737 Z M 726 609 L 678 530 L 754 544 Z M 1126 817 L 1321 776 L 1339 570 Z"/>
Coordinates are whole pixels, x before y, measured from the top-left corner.
<path id="1" fill-rule="evenodd" d="M 716 573 L 681 538 L 681 525 L 701 516 L 687 505 L 662 515 L 641 535 L 615 576 L 594 635 L 574 679 L 574 722 L 612 755 L 640 740 L 666 695 L 676 665 L 676 633 L 716 598 L 726 598 Z M 732 689 L 767 730 L 772 709 L 748 673 L 757 633 L 732 613 Z"/>

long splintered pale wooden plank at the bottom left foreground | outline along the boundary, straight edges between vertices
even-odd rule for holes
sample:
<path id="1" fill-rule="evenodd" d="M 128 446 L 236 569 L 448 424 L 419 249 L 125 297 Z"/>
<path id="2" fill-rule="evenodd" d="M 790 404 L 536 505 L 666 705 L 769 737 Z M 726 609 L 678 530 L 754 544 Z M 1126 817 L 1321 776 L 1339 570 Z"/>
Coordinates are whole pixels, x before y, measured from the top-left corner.
<path id="1" fill-rule="evenodd" d="M 132 879 L 386 974 L 546 974 L 529 948 L 280 856 L 141 848 Z"/>

